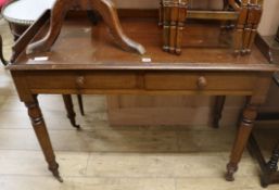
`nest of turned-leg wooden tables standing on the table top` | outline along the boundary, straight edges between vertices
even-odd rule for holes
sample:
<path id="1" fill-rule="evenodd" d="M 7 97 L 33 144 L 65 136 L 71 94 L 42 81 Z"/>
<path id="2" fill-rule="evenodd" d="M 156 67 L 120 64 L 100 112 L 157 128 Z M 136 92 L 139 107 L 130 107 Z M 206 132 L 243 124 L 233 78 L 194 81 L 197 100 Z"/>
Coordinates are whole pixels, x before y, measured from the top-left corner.
<path id="1" fill-rule="evenodd" d="M 162 0 L 161 21 L 164 51 L 180 54 L 186 17 L 199 20 L 234 21 L 233 49 L 236 54 L 248 54 L 256 36 L 263 1 L 224 0 L 220 11 L 192 10 L 189 0 Z"/>

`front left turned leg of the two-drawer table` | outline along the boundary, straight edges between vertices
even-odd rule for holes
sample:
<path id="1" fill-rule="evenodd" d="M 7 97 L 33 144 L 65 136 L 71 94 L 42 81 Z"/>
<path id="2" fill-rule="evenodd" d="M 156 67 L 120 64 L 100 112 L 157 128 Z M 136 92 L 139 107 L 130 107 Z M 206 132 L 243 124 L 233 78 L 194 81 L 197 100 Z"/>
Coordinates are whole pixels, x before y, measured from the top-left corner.
<path id="1" fill-rule="evenodd" d="M 43 152 L 45 159 L 48 162 L 49 169 L 59 181 L 63 182 L 63 179 L 60 177 L 59 174 L 59 164 L 55 161 L 55 155 L 37 98 L 34 97 L 34 101 L 31 102 L 25 102 L 25 105 L 28 109 L 28 115 L 30 117 L 33 128 Z"/>

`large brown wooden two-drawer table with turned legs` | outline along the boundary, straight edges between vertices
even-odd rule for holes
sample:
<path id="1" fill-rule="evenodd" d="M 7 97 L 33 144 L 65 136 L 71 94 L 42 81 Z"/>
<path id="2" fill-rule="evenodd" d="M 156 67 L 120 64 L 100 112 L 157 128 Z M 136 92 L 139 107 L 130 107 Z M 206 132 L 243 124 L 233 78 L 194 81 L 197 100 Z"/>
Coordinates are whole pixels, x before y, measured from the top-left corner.
<path id="1" fill-rule="evenodd" d="M 17 41 L 9 68 L 55 177 L 61 179 L 37 100 L 40 93 L 245 96 L 246 106 L 227 165 L 226 179 L 233 180 L 257 109 L 265 102 L 270 78 L 277 69 L 258 49 L 254 47 L 251 55 L 239 58 L 226 48 L 187 48 L 181 56 L 169 55 L 161 49 L 162 30 L 155 18 L 123 18 L 127 35 L 147 48 L 148 53 L 139 55 L 118 49 L 103 24 L 92 26 L 85 18 L 76 17 L 64 24 L 51 52 L 26 55 L 25 48 L 33 37 L 39 38 L 46 33 L 48 17 L 46 13 Z M 188 43 L 196 39 L 194 35 L 187 36 L 198 30 L 206 30 L 204 45 L 216 45 L 219 28 L 204 25 L 187 29 Z M 49 60 L 35 61 L 36 56 Z M 151 62 L 142 61 L 143 58 L 150 58 Z"/>

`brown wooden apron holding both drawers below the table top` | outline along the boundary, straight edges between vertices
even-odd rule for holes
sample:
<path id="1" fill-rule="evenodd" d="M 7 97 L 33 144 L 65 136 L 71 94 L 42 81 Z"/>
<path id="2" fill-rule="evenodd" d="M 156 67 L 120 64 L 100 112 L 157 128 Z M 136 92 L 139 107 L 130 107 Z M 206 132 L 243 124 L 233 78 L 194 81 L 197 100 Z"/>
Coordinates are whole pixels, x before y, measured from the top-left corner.
<path id="1" fill-rule="evenodd" d="M 251 96 L 258 72 L 25 71 L 31 93 Z M 16 74 L 17 73 L 17 74 Z M 271 76 L 271 73 L 269 74 Z M 269 75 L 267 77 L 269 77 Z M 16 84 L 16 83 L 15 83 Z"/>

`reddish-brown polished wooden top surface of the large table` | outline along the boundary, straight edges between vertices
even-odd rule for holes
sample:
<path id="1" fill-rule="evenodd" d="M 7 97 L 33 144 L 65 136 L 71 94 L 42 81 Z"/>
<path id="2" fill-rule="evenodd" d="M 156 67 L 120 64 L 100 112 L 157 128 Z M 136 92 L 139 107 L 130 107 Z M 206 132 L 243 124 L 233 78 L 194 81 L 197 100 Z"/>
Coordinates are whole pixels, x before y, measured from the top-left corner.
<path id="1" fill-rule="evenodd" d="M 155 18 L 122 18 L 124 31 L 147 49 L 144 55 L 117 47 L 107 28 L 92 26 L 87 18 L 71 18 L 50 52 L 26 55 L 25 50 L 10 69 L 206 69 L 206 71 L 275 71 L 256 47 L 245 56 L 234 56 L 229 41 L 220 43 L 219 26 L 195 24 L 185 29 L 181 55 L 162 50 L 162 28 Z M 37 34 L 46 34 L 48 25 Z M 36 38 L 35 38 L 36 39 Z M 220 46 L 221 45 L 221 46 Z M 48 61 L 35 61 L 47 56 Z M 143 59 L 150 59 L 145 62 Z"/>

